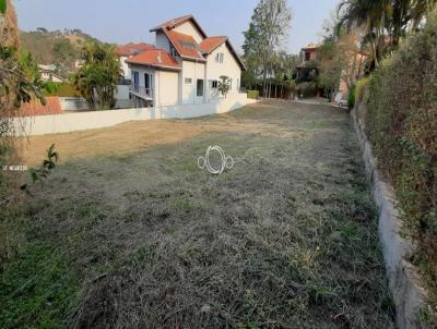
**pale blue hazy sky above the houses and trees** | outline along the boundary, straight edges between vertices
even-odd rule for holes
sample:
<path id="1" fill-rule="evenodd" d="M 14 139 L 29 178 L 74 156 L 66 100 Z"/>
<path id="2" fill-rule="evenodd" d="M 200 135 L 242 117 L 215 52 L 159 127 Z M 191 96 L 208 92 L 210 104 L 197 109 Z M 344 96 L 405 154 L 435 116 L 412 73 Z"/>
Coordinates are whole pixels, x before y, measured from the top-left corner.
<path id="1" fill-rule="evenodd" d="M 209 36 L 226 35 L 240 49 L 258 0 L 13 0 L 24 31 L 80 28 L 106 42 L 153 42 L 150 28 L 193 14 Z M 293 12 L 286 46 L 292 53 L 320 40 L 339 0 L 288 0 Z"/>

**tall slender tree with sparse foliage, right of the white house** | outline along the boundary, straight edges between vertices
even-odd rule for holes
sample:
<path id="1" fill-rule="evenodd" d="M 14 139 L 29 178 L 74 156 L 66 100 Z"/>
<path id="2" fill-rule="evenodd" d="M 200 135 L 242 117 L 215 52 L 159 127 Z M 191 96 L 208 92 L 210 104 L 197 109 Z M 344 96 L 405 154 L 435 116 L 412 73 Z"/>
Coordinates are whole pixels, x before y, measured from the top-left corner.
<path id="1" fill-rule="evenodd" d="M 272 76 L 274 56 L 284 46 L 292 20 L 286 0 L 260 0 L 249 29 L 244 33 L 243 49 L 252 75 L 262 75 L 263 96 Z"/>

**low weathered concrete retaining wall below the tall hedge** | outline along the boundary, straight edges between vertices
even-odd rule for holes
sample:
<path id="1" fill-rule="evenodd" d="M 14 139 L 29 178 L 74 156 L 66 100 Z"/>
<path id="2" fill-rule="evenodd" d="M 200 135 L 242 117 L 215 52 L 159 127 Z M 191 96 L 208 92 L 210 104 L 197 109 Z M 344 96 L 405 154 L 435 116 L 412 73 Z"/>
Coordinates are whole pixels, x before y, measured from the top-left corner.
<path id="1" fill-rule="evenodd" d="M 401 237 L 402 221 L 395 207 L 395 197 L 390 184 L 386 183 L 377 169 L 371 144 L 367 139 L 363 123 L 352 118 L 358 136 L 371 192 L 379 208 L 379 240 L 382 245 L 389 287 L 397 308 L 399 329 L 426 328 L 418 324 L 418 312 L 425 306 L 426 293 L 420 284 L 417 269 L 409 261 L 414 251 L 411 241 Z"/>

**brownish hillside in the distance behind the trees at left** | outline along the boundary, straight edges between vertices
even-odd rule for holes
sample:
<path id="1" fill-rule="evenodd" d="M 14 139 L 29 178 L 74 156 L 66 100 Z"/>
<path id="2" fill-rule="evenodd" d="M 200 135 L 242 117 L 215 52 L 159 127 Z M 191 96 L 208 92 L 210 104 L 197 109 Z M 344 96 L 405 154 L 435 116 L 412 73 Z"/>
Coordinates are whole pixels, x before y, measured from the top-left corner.
<path id="1" fill-rule="evenodd" d="M 47 31 L 39 27 L 20 32 L 23 48 L 31 51 L 38 64 L 57 64 L 61 73 L 74 69 L 80 48 L 87 40 L 96 40 L 80 29 Z"/>

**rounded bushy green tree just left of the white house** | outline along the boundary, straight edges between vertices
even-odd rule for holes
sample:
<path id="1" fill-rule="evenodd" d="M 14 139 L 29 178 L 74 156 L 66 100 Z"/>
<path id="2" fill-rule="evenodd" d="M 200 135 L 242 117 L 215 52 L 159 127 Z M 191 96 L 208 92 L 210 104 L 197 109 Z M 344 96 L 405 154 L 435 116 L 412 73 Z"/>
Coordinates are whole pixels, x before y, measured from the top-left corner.
<path id="1" fill-rule="evenodd" d="M 121 76 L 119 58 L 111 45 L 88 41 L 82 49 L 83 65 L 73 75 L 74 87 L 90 108 L 111 109 L 117 83 Z"/>

